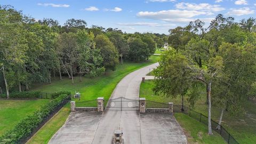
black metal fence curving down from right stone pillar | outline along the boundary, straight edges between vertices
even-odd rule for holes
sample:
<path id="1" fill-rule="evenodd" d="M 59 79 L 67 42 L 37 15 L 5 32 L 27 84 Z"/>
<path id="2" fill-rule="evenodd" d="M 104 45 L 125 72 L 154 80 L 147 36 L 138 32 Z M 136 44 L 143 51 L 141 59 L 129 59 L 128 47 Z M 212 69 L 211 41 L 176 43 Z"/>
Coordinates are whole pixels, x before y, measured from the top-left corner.
<path id="1" fill-rule="evenodd" d="M 180 106 L 180 105 L 174 105 L 173 112 L 186 114 L 186 115 L 196 119 L 197 121 L 199 121 L 205 125 L 208 125 L 208 117 L 207 116 L 203 115 L 202 113 L 198 113 L 197 111 L 194 111 L 192 109 L 189 109 L 188 107 L 183 107 L 184 110 L 181 110 L 181 108 L 182 108 L 182 106 Z M 225 141 L 227 141 L 227 143 L 239 144 L 234 139 L 234 137 L 232 137 L 232 135 L 222 125 L 219 125 L 217 122 L 213 121 L 212 119 L 211 119 L 211 124 L 212 124 L 212 130 L 219 133 L 221 135 L 221 137 Z"/>

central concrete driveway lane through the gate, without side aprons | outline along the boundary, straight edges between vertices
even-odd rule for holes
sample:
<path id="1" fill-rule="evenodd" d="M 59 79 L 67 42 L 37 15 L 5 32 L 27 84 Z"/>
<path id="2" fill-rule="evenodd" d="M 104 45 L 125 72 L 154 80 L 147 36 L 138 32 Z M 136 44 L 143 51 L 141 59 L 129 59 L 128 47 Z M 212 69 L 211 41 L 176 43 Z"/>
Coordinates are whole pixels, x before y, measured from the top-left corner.
<path id="1" fill-rule="evenodd" d="M 159 64 L 154 63 L 135 70 L 125 76 L 111 94 L 111 99 L 124 97 L 139 100 L 140 83 L 151 70 Z M 92 143 L 111 143 L 114 131 L 123 130 L 125 143 L 141 143 L 140 119 L 138 111 L 105 111 Z"/>

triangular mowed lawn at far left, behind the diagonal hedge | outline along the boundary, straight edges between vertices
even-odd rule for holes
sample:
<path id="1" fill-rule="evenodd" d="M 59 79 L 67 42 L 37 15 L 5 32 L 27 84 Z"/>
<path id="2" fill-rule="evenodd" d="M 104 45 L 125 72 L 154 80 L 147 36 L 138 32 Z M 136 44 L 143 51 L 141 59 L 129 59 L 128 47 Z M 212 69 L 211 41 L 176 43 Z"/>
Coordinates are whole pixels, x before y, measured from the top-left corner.
<path id="1" fill-rule="evenodd" d="M 0 100 L 0 135 L 49 100 Z"/>

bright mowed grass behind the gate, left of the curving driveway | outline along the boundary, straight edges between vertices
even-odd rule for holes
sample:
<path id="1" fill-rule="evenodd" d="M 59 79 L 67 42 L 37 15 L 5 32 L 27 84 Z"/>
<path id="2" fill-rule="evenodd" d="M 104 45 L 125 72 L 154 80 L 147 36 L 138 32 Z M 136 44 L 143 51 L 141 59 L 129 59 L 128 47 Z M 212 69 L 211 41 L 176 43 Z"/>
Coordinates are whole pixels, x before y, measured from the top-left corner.
<path id="1" fill-rule="evenodd" d="M 35 86 L 32 90 L 41 92 L 66 90 L 73 94 L 75 91 L 79 91 L 81 93 L 81 100 L 75 99 L 76 106 L 97 106 L 97 102 L 86 101 L 95 100 L 98 97 L 104 97 L 106 100 L 109 99 L 117 83 L 121 81 L 124 76 L 136 69 L 155 63 L 158 60 L 158 55 L 152 55 L 149 60 L 144 62 L 124 62 L 123 65 L 119 64 L 115 71 L 109 70 L 106 75 L 94 78 L 83 77 L 82 82 L 79 82 L 79 77 L 74 77 L 74 85 L 71 83 L 71 79 L 63 78 L 62 81 L 60 81 L 56 78 L 51 84 Z"/>

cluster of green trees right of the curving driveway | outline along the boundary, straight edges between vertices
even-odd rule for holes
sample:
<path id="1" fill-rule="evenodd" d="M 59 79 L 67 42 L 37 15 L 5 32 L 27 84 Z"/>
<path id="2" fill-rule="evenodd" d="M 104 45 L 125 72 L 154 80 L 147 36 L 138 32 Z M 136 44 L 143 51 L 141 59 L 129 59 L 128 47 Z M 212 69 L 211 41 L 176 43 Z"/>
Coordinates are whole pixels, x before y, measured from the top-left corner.
<path id="1" fill-rule="evenodd" d="M 172 49 L 162 55 L 155 70 L 155 93 L 187 97 L 194 107 L 202 93 L 208 105 L 209 135 L 212 135 L 211 106 L 244 112 L 243 102 L 255 97 L 256 19 L 235 22 L 218 14 L 209 26 L 202 20 L 169 30 Z M 182 105 L 183 106 L 183 105 Z"/>

